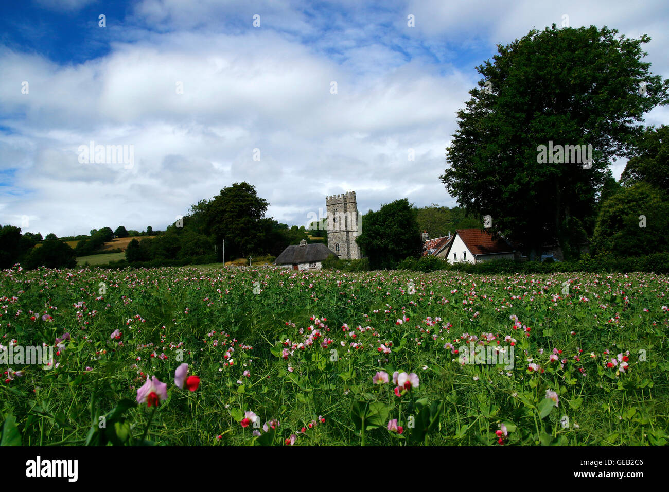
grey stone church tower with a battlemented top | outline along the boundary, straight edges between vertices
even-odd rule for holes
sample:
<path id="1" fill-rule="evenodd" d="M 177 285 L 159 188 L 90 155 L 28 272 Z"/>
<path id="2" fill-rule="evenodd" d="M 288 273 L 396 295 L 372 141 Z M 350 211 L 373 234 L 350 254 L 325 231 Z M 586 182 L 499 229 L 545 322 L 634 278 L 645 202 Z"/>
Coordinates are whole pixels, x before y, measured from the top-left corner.
<path id="1" fill-rule="evenodd" d="M 359 260 L 360 248 L 355 238 L 362 232 L 355 191 L 325 197 L 328 213 L 328 248 L 342 260 Z"/>

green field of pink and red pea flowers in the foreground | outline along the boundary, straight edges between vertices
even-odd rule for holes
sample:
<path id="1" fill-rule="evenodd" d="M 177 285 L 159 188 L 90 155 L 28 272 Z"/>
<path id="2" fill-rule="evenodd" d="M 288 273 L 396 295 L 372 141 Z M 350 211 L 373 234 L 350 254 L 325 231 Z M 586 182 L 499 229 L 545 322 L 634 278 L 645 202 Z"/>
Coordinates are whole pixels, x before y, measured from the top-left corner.
<path id="1" fill-rule="evenodd" d="M 669 440 L 669 276 L 15 266 L 0 278 L 3 444 Z M 21 347 L 53 355 L 25 363 Z"/>

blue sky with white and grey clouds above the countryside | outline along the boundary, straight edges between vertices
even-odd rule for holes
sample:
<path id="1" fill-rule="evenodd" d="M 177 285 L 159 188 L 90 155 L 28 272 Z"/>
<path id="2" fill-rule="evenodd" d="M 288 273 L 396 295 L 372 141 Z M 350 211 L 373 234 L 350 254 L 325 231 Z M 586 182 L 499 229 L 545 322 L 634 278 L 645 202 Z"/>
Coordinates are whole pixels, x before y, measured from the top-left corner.
<path id="1" fill-rule="evenodd" d="M 164 230 L 235 181 L 289 225 L 351 190 L 361 212 L 403 197 L 454 206 L 438 176 L 475 67 L 563 15 L 650 35 L 645 60 L 669 78 L 659 0 L 5 3 L 0 224 Z M 668 108 L 646 115 L 667 122 Z M 106 146 L 97 161 L 91 143 Z M 107 159 L 118 145 L 125 163 Z"/>

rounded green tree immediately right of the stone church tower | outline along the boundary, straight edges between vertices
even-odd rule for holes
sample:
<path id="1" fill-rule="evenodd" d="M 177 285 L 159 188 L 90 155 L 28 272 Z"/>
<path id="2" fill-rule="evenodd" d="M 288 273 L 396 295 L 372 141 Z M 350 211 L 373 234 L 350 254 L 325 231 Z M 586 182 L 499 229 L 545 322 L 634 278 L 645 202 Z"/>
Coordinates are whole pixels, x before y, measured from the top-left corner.
<path id="1" fill-rule="evenodd" d="M 421 252 L 417 211 L 406 198 L 381 206 L 363 216 L 363 231 L 355 242 L 374 269 L 394 268 L 407 257 Z"/>

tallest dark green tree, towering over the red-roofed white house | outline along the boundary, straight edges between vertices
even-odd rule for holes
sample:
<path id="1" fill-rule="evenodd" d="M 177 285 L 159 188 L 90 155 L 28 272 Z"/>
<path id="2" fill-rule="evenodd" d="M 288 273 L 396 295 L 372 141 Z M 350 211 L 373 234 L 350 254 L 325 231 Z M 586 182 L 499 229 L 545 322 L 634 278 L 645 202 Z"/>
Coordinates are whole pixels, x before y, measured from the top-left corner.
<path id="1" fill-rule="evenodd" d="M 569 256 L 592 230 L 614 157 L 630 157 L 644 112 L 668 101 L 640 39 L 595 26 L 533 30 L 477 68 L 440 177 L 460 205 L 535 254 L 553 239 Z M 539 163 L 539 146 L 592 145 L 593 162 Z M 575 156 L 574 156 L 575 157 Z M 562 161 L 562 162 L 561 162 Z M 570 247 L 571 246 L 571 247 Z"/>

